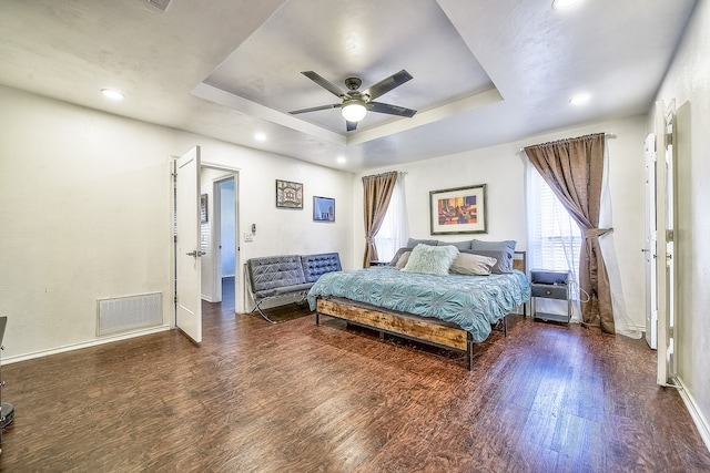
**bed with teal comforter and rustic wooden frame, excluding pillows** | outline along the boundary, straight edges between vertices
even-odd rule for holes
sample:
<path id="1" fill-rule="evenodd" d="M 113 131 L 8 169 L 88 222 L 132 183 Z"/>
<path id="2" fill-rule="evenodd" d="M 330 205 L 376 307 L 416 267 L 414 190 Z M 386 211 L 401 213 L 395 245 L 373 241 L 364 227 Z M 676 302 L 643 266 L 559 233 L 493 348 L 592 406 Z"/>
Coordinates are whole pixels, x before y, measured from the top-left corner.
<path id="1" fill-rule="evenodd" d="M 462 251 L 463 253 L 463 251 Z M 384 333 L 467 353 L 470 370 L 474 343 L 499 328 L 506 316 L 530 298 L 525 251 L 510 251 L 504 274 L 470 276 L 407 273 L 394 264 L 323 275 L 307 299 L 321 316 Z"/>

